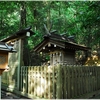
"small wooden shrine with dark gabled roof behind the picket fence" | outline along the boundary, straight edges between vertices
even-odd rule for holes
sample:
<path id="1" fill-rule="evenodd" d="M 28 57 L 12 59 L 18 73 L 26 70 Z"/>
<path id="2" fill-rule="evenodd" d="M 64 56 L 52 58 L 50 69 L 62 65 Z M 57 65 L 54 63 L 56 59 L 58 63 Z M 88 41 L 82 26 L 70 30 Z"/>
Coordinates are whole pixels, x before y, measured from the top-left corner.
<path id="1" fill-rule="evenodd" d="M 73 36 L 64 36 L 55 32 L 44 35 L 44 40 L 35 48 L 35 52 L 50 54 L 50 65 L 57 63 L 76 64 L 75 51 L 88 51 L 90 48 L 78 45 Z"/>

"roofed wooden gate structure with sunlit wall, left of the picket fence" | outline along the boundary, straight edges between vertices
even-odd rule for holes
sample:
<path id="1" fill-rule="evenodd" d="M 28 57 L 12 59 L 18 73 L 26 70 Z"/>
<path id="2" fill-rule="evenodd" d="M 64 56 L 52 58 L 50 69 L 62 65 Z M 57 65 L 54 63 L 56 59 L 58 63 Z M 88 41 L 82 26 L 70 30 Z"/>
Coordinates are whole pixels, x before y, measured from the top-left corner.
<path id="1" fill-rule="evenodd" d="M 31 30 L 31 27 L 28 27 L 18 30 L 14 34 L 0 40 L 1 42 L 5 42 L 9 47 L 13 46 L 13 48 L 17 51 L 16 53 L 9 53 L 8 55 L 8 64 L 9 69 L 11 70 L 7 73 L 3 73 L 2 75 L 2 89 L 20 89 L 21 66 L 25 66 L 26 61 L 24 61 L 24 59 L 28 58 L 25 52 L 26 48 L 24 49 L 24 46 L 26 45 L 25 41 L 28 37 L 34 34 L 35 33 Z"/>

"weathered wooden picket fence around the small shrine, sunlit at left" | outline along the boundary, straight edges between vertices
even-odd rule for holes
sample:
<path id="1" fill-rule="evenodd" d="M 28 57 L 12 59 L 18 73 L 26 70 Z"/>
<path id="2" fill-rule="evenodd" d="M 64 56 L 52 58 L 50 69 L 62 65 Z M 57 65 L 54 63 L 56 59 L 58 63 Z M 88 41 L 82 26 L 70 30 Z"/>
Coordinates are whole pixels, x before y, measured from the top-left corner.
<path id="1" fill-rule="evenodd" d="M 79 98 L 100 90 L 100 67 L 23 66 L 20 91 L 46 99 Z"/>

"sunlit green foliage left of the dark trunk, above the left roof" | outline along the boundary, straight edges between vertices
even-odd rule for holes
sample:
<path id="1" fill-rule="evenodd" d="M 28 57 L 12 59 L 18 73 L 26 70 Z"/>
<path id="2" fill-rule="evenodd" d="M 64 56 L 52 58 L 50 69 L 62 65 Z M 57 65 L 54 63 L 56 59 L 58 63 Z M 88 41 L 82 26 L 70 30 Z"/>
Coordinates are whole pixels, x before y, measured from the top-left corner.
<path id="1" fill-rule="evenodd" d="M 0 1 L 0 38 L 7 37 L 19 28 L 17 2 Z"/>

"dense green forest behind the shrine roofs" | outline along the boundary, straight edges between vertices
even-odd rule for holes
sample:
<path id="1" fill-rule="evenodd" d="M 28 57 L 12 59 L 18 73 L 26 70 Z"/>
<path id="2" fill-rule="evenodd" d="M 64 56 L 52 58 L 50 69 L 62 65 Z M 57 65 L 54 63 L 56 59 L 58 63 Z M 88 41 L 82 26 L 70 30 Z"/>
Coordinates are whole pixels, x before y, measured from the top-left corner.
<path id="1" fill-rule="evenodd" d="M 25 65 L 38 65 L 48 56 L 32 52 L 48 30 L 74 36 L 78 44 L 95 50 L 100 46 L 99 1 L 0 1 L 0 39 L 32 26 L 35 35 L 25 45 Z"/>

